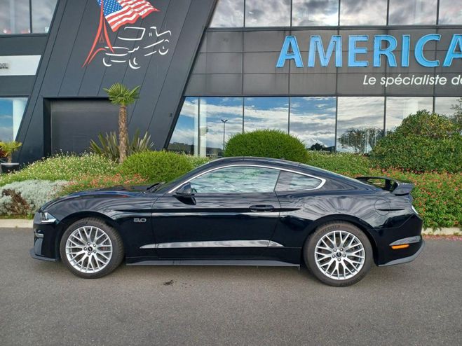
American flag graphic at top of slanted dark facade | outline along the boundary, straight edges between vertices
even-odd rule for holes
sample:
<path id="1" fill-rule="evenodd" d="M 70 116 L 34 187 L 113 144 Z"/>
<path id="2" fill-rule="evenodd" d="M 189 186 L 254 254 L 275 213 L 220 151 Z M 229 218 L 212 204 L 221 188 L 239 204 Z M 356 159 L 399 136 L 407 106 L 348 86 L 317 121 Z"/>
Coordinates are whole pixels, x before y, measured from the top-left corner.
<path id="1" fill-rule="evenodd" d="M 133 24 L 149 13 L 158 12 L 158 9 L 146 0 L 97 0 L 103 4 L 104 18 L 106 18 L 113 32 L 126 24 Z"/>

